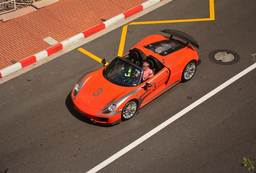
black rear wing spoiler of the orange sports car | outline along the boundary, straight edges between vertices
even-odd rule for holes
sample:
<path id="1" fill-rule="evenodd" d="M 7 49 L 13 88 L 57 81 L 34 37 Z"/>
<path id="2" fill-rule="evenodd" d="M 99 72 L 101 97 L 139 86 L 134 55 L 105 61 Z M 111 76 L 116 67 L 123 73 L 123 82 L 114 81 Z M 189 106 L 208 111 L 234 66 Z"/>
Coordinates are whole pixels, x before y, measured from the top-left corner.
<path id="1" fill-rule="evenodd" d="M 188 45 L 188 43 L 190 43 L 191 45 L 195 46 L 196 48 L 199 48 L 199 45 L 196 42 L 196 40 L 192 36 L 190 36 L 190 35 L 188 35 L 184 32 L 181 32 L 181 31 L 178 31 L 178 30 L 172 30 L 172 29 L 161 30 L 161 32 L 164 32 L 166 34 L 171 34 L 170 39 L 173 36 L 175 36 L 175 37 L 178 37 L 178 38 L 186 41 L 187 42 L 186 46 Z"/>

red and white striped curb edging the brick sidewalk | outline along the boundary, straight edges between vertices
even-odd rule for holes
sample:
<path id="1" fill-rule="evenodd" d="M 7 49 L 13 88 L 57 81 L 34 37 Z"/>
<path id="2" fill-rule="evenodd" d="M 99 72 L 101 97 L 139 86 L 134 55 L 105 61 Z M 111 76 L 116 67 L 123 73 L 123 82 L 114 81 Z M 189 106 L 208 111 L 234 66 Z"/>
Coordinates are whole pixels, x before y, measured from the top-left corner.
<path id="1" fill-rule="evenodd" d="M 89 30 L 86 30 L 80 34 L 77 34 L 76 36 L 73 36 L 63 42 L 60 42 L 59 44 L 56 44 L 55 46 L 52 46 L 46 50 L 43 50 L 29 58 L 26 58 L 24 60 L 21 60 L 20 62 L 17 62 L 15 64 L 12 64 L 6 68 L 3 68 L 2 70 L 0 70 L 0 78 L 7 76 L 8 74 L 11 74 L 13 72 L 16 72 L 17 70 L 20 70 L 30 64 L 33 64 L 39 60 L 41 60 L 42 58 L 45 58 L 47 56 L 50 56 L 72 44 L 74 44 L 75 42 L 78 42 L 80 40 L 83 40 L 109 26 L 111 26 L 112 24 L 119 22 L 121 20 L 124 20 L 142 10 L 145 10 L 146 8 L 153 6 L 154 4 L 157 4 L 158 2 L 160 2 L 162 0 L 149 0 L 147 2 L 144 2 L 143 4 L 140 4 L 139 6 L 136 6 L 135 8 L 132 8 L 131 10 L 128 10 L 127 12 L 124 12 L 123 14 L 119 14 L 118 16 L 115 16 L 114 18 L 111 18 Z"/>

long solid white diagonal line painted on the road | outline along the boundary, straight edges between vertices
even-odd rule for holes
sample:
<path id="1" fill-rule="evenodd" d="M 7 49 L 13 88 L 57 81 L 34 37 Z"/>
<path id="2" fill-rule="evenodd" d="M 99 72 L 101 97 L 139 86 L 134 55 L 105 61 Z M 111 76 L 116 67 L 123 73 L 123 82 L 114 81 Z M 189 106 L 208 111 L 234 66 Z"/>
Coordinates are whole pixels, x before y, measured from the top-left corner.
<path id="1" fill-rule="evenodd" d="M 199 100 L 195 101 L 194 103 L 192 103 L 191 105 L 189 105 L 188 107 L 186 107 L 185 109 L 183 109 L 182 111 L 180 111 L 179 113 L 177 113 L 176 115 L 174 115 L 173 117 L 168 119 L 167 121 L 163 122 L 161 125 L 157 126 L 155 129 L 149 131 L 148 133 L 146 133 L 145 135 L 143 135 L 142 137 L 140 137 L 139 139 L 137 139 L 136 141 L 134 141 L 133 143 L 131 143 L 130 145 L 125 147 L 124 149 L 120 150 L 118 153 L 112 155 L 107 160 L 103 161 L 102 163 L 100 163 L 99 165 L 97 165 L 96 167 L 94 167 L 93 169 L 88 171 L 87 173 L 96 173 L 97 171 L 99 171 L 103 167 L 107 166 L 109 163 L 118 159 L 119 157 L 121 157 L 122 155 L 124 155 L 125 153 L 127 153 L 128 151 L 130 151 L 131 149 L 133 149 L 134 147 L 136 147 L 137 145 L 139 145 L 140 143 L 142 143 L 146 139 L 148 139 L 149 137 L 155 135 L 155 133 L 159 132 L 160 130 L 162 130 L 167 125 L 171 124 L 176 119 L 182 117 L 182 115 L 186 114 L 188 111 L 192 110 L 194 107 L 200 105 L 201 103 L 203 103 L 204 101 L 206 101 L 207 99 L 209 99 L 210 97 L 212 97 L 213 95 L 215 95 L 216 93 L 218 93 L 219 91 L 221 91 L 222 89 L 227 87 L 229 84 L 235 82 L 235 80 L 239 79 L 240 77 L 244 76 L 248 72 L 252 71 L 254 68 L 256 68 L 256 63 L 252 64 L 250 67 L 246 68 L 244 71 L 235 75 L 233 78 L 227 80 L 227 82 L 221 84 L 219 87 L 217 87 L 216 89 L 214 89 L 210 93 L 201 97 Z"/>

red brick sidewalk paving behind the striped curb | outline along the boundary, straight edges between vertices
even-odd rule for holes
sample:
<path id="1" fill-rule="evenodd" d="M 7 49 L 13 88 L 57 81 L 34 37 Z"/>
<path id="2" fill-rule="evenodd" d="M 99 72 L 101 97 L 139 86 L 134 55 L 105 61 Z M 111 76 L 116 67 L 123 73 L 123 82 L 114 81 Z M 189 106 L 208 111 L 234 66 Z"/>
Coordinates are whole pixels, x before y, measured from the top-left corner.
<path id="1" fill-rule="evenodd" d="M 122 14 L 147 0 L 60 0 L 25 16 L 0 23 L 0 70 Z M 74 4 L 75 2 L 75 4 Z"/>

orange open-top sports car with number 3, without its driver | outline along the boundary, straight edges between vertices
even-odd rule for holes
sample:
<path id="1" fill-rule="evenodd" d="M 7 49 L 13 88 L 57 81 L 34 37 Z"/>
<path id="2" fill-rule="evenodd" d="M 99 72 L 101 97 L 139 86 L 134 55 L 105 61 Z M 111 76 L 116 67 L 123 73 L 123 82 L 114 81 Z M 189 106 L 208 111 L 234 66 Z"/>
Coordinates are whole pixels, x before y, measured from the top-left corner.
<path id="1" fill-rule="evenodd" d="M 114 125 L 132 118 L 179 82 L 190 80 L 200 64 L 194 48 L 199 48 L 198 43 L 178 30 L 161 32 L 170 36 L 147 36 L 123 57 L 107 66 L 104 59 L 103 68 L 82 76 L 71 92 L 74 109 L 94 123 Z M 154 74 L 147 80 L 142 79 L 145 61 Z"/>

